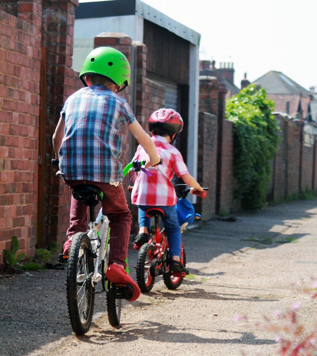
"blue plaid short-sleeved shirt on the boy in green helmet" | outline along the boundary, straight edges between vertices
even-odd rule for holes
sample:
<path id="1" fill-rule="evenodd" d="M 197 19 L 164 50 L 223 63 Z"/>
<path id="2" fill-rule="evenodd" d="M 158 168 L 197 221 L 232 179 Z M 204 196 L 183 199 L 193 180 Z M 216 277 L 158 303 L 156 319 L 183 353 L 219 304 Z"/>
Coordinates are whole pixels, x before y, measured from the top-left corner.
<path id="1" fill-rule="evenodd" d="M 68 180 L 122 181 L 120 124 L 135 120 L 127 101 L 106 87 L 93 85 L 69 96 L 61 111 L 65 135 L 59 169 Z"/>

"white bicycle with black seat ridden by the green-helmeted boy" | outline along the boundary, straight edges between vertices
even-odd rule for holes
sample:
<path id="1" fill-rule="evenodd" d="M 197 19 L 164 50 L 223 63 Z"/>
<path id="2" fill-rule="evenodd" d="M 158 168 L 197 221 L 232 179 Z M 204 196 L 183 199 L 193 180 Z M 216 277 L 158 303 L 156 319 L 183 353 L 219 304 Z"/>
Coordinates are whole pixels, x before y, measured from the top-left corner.
<path id="1" fill-rule="evenodd" d="M 58 165 L 58 161 L 53 159 L 52 165 Z M 71 328 L 77 335 L 83 335 L 91 325 L 95 294 L 106 292 L 108 320 L 112 326 L 117 326 L 120 323 L 121 301 L 132 298 L 133 288 L 130 284 L 111 283 L 106 278 L 110 249 L 109 220 L 101 209 L 95 217 L 95 206 L 102 200 L 102 190 L 95 185 L 82 184 L 73 188 L 72 195 L 89 206 L 89 230 L 74 234 L 69 254 L 60 254 L 59 261 L 67 262 L 66 298 Z M 128 262 L 127 259 L 125 262 Z M 128 267 L 126 271 L 129 272 Z M 102 289 L 97 291 L 100 281 Z"/>

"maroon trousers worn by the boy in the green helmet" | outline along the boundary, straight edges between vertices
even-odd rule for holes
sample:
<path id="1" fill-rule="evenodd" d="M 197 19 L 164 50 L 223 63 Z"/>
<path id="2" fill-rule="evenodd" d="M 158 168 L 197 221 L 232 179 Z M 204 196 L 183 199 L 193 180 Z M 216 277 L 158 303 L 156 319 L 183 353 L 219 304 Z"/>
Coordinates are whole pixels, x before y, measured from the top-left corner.
<path id="1" fill-rule="evenodd" d="M 131 213 L 122 184 L 115 187 L 109 183 L 92 182 L 90 180 L 65 180 L 65 183 L 70 188 L 74 188 L 78 184 L 93 184 L 102 189 L 104 193 L 101 201 L 102 214 L 108 217 L 110 227 L 109 263 L 117 262 L 125 268 L 131 229 Z M 86 232 L 88 218 L 88 206 L 71 196 L 70 226 L 67 230 L 67 237 L 70 238 L 77 232 Z"/>

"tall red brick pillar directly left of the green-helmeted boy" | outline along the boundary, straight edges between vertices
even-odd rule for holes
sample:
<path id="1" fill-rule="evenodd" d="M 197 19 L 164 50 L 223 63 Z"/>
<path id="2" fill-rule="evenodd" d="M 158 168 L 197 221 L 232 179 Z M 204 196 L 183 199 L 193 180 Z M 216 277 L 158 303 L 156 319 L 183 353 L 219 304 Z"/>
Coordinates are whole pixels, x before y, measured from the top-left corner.
<path id="1" fill-rule="evenodd" d="M 72 47 L 75 21 L 75 7 L 78 0 L 43 0 L 42 7 L 42 47 L 47 53 L 46 74 L 46 119 L 45 151 L 45 220 L 44 241 L 62 243 L 69 227 L 71 190 L 60 177 L 55 176 L 56 168 L 51 168 L 50 160 L 55 158 L 52 136 L 66 98 L 82 87 L 75 79 L 72 66 Z"/>

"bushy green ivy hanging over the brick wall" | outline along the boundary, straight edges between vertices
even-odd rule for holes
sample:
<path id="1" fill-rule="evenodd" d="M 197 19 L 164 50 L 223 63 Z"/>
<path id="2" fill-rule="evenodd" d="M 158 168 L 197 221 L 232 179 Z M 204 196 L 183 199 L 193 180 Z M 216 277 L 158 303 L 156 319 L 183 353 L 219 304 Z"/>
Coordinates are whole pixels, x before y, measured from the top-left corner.
<path id="1" fill-rule="evenodd" d="M 274 102 L 265 88 L 250 84 L 226 102 L 226 119 L 233 122 L 233 174 L 238 188 L 235 198 L 244 209 L 259 209 L 267 198 L 270 161 L 279 143 L 278 122 L 272 115 Z"/>

